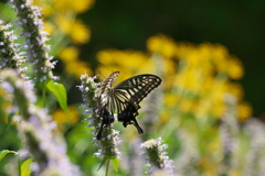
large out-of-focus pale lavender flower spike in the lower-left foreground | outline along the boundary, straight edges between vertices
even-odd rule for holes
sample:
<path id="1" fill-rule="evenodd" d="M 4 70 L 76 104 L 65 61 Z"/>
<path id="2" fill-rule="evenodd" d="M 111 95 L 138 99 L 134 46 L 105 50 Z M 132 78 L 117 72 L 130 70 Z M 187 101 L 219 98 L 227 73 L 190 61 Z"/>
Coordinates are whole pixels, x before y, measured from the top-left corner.
<path id="1" fill-rule="evenodd" d="M 25 140 L 25 148 L 33 155 L 36 175 L 81 175 L 66 156 L 63 136 L 54 130 L 56 124 L 45 109 L 34 106 L 36 100 L 29 84 L 17 72 L 7 69 L 1 75 L 3 89 L 13 95 L 22 121 L 18 125 Z"/>

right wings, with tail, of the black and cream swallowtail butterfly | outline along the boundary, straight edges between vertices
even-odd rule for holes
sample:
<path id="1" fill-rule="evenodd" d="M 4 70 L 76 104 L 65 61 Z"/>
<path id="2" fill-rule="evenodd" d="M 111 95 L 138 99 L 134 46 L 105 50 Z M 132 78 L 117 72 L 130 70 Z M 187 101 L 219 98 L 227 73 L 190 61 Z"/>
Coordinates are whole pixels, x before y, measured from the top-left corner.
<path id="1" fill-rule="evenodd" d="M 134 124 L 139 134 L 144 133 L 136 120 L 138 109 L 140 109 L 139 102 L 160 84 L 161 78 L 156 75 L 138 75 L 121 81 L 115 87 L 115 91 L 123 92 L 126 97 L 126 101 L 118 100 L 121 106 L 117 106 L 118 120 L 124 122 L 125 128 L 128 124 Z"/>

